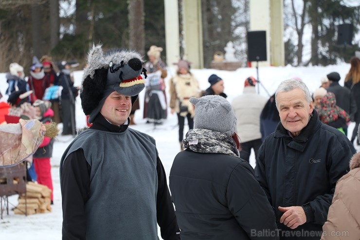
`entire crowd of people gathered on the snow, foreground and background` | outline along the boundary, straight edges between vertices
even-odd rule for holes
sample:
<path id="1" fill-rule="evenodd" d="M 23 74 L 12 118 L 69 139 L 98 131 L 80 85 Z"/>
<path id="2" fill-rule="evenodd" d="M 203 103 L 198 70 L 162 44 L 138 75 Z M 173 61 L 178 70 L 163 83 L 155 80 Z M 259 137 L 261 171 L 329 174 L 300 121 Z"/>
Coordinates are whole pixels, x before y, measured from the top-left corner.
<path id="1" fill-rule="evenodd" d="M 311 94 L 294 77 L 268 99 L 256 93 L 258 82 L 249 76 L 242 94 L 229 102 L 220 76 L 211 74 L 201 91 L 184 59 L 165 92 L 161 52 L 151 46 L 144 64 L 137 52 L 90 49 L 80 98 L 91 125 L 60 163 L 63 239 L 158 239 L 158 225 L 164 240 L 360 238 L 354 148 L 360 136 L 359 58 L 351 59 L 344 86 L 332 72 Z M 54 121 L 53 102 L 44 97 L 56 85 L 61 109 L 74 112 L 70 65 L 53 82 L 38 81 L 44 66 L 34 58 L 26 81 L 22 67 L 10 65 L 6 94 L 18 117 Z M 129 128 L 143 90 L 147 122 L 162 124 L 168 106 L 177 114 L 180 151 L 169 185 L 154 138 Z M 70 122 L 63 123 L 64 134 L 74 134 L 71 115 L 62 116 Z M 349 140 L 351 122 L 356 127 Z M 37 181 L 49 187 L 52 144 L 45 138 L 40 147 L 46 151 L 39 148 L 33 156 Z"/>

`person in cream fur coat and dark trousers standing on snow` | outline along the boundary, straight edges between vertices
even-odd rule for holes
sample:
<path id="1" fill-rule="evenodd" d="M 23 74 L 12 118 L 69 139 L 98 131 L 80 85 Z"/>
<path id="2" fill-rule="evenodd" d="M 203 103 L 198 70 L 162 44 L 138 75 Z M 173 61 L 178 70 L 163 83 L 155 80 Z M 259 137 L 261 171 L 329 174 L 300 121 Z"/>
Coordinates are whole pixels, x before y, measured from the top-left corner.
<path id="1" fill-rule="evenodd" d="M 170 83 L 170 109 L 178 115 L 179 142 L 182 150 L 182 138 L 185 125 L 185 117 L 189 125 L 189 130 L 194 128 L 194 106 L 190 103 L 190 97 L 199 97 L 200 89 L 198 80 L 190 72 L 190 62 L 180 60 L 178 72 L 169 81 Z"/>

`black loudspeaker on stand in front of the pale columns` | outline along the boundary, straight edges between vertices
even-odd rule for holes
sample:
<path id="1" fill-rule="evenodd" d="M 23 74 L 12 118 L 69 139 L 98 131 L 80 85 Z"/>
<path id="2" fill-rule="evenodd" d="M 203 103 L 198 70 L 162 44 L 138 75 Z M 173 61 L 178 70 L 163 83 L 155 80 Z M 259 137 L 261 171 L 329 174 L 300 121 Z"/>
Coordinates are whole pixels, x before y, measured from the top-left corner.
<path id="1" fill-rule="evenodd" d="M 248 60 L 266 61 L 266 31 L 248 32 Z"/>

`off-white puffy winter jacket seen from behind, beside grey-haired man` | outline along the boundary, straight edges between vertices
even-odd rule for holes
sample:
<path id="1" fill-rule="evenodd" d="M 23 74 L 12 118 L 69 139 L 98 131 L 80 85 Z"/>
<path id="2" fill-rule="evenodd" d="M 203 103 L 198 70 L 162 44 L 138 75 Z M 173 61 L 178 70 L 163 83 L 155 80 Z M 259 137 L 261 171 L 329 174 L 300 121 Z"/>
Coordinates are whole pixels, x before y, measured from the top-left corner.
<path id="1" fill-rule="evenodd" d="M 242 143 L 261 139 L 260 113 L 267 101 L 252 86 L 245 87 L 243 94 L 234 98 L 231 105 L 237 119 L 236 133 Z"/>

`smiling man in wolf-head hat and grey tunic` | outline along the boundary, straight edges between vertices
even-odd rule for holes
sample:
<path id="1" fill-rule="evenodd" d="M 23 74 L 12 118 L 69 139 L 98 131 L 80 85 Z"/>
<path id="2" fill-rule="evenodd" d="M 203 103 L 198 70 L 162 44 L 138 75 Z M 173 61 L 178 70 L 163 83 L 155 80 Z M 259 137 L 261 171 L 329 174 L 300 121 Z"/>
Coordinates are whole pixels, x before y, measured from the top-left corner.
<path id="1" fill-rule="evenodd" d="M 80 92 L 90 129 L 60 163 L 63 239 L 180 240 L 155 140 L 128 128 L 132 103 L 144 89 L 136 52 L 101 45 L 88 55 Z"/>

